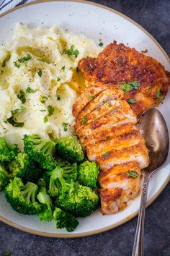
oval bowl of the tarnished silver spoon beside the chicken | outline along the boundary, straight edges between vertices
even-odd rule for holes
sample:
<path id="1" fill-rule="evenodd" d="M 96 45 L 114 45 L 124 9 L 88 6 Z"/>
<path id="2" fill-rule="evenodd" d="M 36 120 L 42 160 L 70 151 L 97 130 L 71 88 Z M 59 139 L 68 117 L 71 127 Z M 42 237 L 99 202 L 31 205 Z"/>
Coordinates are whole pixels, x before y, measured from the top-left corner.
<path id="1" fill-rule="evenodd" d="M 149 108 L 140 116 L 138 128 L 146 141 L 151 161 L 145 171 L 156 171 L 165 163 L 169 153 L 169 132 L 166 121 L 157 108 Z"/>

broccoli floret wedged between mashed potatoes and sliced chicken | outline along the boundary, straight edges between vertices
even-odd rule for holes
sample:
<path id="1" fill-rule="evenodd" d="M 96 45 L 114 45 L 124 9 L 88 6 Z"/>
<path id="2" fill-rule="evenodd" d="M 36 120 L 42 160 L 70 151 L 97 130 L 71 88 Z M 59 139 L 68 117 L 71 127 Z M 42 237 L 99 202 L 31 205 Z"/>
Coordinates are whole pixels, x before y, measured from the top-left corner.
<path id="1" fill-rule="evenodd" d="M 68 137 L 63 137 L 55 140 L 55 142 L 55 148 L 61 158 L 64 158 L 71 163 L 81 163 L 84 161 L 84 152 L 76 136 L 71 135 Z"/>

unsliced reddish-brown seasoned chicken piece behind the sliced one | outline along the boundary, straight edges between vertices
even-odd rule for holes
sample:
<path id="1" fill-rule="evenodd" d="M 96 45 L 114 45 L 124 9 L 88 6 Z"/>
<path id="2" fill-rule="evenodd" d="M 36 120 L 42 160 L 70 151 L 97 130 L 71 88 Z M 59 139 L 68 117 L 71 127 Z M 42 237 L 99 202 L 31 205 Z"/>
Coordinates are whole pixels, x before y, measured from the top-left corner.
<path id="1" fill-rule="evenodd" d="M 130 105 L 137 116 L 151 106 L 158 106 L 170 85 L 169 72 L 156 59 L 116 41 L 97 58 L 82 59 L 79 69 L 91 85 L 101 82 L 119 88 L 122 82 L 138 81 L 138 90 L 133 89 L 123 97 L 125 101 L 135 99 L 136 103 Z"/>

